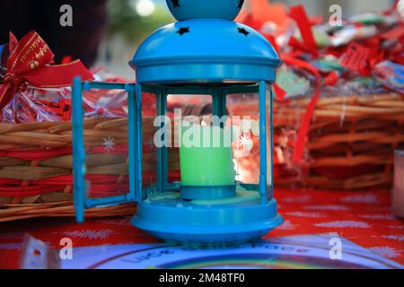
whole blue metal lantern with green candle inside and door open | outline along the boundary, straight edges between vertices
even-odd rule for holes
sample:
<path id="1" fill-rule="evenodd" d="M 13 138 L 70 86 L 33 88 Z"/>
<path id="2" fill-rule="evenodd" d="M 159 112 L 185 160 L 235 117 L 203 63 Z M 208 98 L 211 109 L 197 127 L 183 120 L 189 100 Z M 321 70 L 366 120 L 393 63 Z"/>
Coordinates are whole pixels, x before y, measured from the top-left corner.
<path id="1" fill-rule="evenodd" d="M 242 8 L 242 0 L 167 0 L 167 4 L 179 22 L 156 30 L 137 49 L 130 61 L 136 71 L 136 84 L 75 80 L 73 130 L 77 221 L 83 222 L 84 208 L 136 202 L 137 211 L 131 223 L 165 241 L 210 245 L 259 239 L 283 221 L 272 196 L 271 84 L 275 81 L 280 60 L 259 32 L 233 22 Z M 128 94 L 127 195 L 85 196 L 82 91 L 93 88 L 122 89 Z M 191 146 L 194 149 L 180 146 L 181 179 L 170 182 L 168 147 L 161 145 L 156 149 L 156 183 L 145 187 L 142 182 L 142 92 L 156 95 L 156 116 L 167 114 L 169 95 L 209 95 L 212 117 L 219 119 L 228 116 L 229 99 L 255 97 L 259 117 L 241 120 L 238 124 L 253 126 L 249 130 L 258 138 L 254 144 L 259 146 L 259 166 L 250 169 L 256 173 L 256 178 L 240 177 L 233 168 L 237 159 L 229 153 L 233 151 L 233 145 L 226 148 L 220 143 L 217 150 L 211 149 L 212 146 L 200 149 L 198 146 Z M 216 127 L 219 138 L 230 135 L 231 141 L 233 138 L 238 140 L 241 134 L 233 136 L 233 127 L 226 129 L 227 123 L 219 120 L 215 125 L 213 121 L 213 125 L 207 127 L 202 123 L 200 126 L 188 123 L 187 128 L 197 132 L 207 128 L 210 135 L 209 131 L 213 129 L 209 128 Z M 168 130 L 164 121 L 160 124 L 163 131 Z M 230 134 L 224 130 L 230 130 Z M 241 126 L 238 131 L 243 133 L 246 129 Z M 206 136 L 206 133 L 201 135 Z M 162 139 L 164 136 L 168 135 L 163 134 Z M 242 144 L 251 148 L 252 142 L 247 139 Z M 206 168 L 201 170 L 201 166 Z"/>

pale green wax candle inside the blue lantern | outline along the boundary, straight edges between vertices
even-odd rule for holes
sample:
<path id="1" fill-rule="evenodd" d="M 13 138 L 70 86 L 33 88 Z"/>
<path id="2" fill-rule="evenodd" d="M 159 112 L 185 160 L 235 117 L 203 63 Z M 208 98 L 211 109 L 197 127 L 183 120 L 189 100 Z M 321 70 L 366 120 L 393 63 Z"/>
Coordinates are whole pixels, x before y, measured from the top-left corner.
<path id="1" fill-rule="evenodd" d="M 182 122 L 179 133 L 181 185 L 233 185 L 235 170 L 230 133 L 219 126 L 185 123 Z"/>

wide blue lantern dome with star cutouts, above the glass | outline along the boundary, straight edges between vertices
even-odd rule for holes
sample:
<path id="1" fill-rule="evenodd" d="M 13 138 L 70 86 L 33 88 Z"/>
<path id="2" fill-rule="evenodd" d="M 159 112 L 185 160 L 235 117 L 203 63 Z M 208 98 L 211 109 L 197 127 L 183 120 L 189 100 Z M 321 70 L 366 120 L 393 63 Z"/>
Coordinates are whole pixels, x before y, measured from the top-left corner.
<path id="1" fill-rule="evenodd" d="M 249 26 L 199 18 L 156 30 L 129 64 L 137 83 L 200 83 L 274 82 L 280 62 L 268 40 Z"/>

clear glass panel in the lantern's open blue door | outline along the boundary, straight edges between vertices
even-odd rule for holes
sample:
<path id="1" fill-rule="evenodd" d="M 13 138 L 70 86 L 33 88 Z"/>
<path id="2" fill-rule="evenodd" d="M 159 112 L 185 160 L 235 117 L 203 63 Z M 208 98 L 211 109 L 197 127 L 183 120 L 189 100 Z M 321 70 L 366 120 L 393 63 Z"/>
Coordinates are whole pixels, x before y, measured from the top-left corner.
<path id="1" fill-rule="evenodd" d="M 95 104 L 94 97 L 101 100 Z M 84 91 L 83 112 L 86 197 L 97 202 L 104 197 L 126 195 L 129 192 L 128 133 L 127 124 L 119 118 L 127 117 L 127 92 Z"/>

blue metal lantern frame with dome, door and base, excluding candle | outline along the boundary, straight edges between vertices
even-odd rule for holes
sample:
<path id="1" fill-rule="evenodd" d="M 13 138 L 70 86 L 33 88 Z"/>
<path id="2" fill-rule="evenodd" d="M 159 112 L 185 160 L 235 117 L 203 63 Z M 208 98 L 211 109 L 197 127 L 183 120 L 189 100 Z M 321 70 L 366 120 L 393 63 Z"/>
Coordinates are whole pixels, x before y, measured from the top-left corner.
<path id="1" fill-rule="evenodd" d="M 236 3 L 220 1 L 227 5 Z M 186 3 L 188 2 L 184 2 Z M 206 4 L 205 1 L 204 3 Z M 210 11 L 215 9 L 214 4 L 207 4 Z M 184 7 L 183 9 L 189 11 L 190 6 Z M 174 9 L 172 6 L 170 8 L 171 11 Z M 240 7 L 238 9 L 240 10 Z M 225 9 L 221 11 L 221 14 L 223 13 Z M 188 32 L 182 34 L 183 29 Z M 212 41 L 215 45 L 206 44 L 206 41 Z M 199 45 L 200 43 L 205 45 Z M 190 19 L 156 30 L 137 49 L 130 62 L 136 70 L 137 83 L 83 83 L 76 78 L 73 87 L 72 121 L 77 221 L 83 222 L 85 208 L 136 202 L 136 215 L 131 220 L 134 226 L 159 239 L 190 245 L 242 243 L 259 239 L 281 224 L 283 219 L 277 213 L 277 202 L 273 198 L 272 91 L 268 92 L 268 88 L 275 81 L 276 68 L 280 63 L 268 40 L 248 26 L 225 20 L 225 17 Z M 127 91 L 127 195 L 86 198 L 86 190 L 89 187 L 86 187 L 84 178 L 82 93 L 91 89 Z M 240 184 L 253 194 L 253 199 L 230 203 L 221 201 L 222 191 L 214 191 L 214 196 L 208 198 L 206 204 L 185 201 L 180 196 L 181 192 L 175 198 L 151 201 L 151 195 L 155 193 L 176 191 L 181 187 L 178 182 L 168 181 L 168 149 L 161 147 L 157 148 L 156 152 L 156 185 L 143 188 L 142 92 L 153 92 L 156 95 L 156 116 L 166 115 L 169 94 L 211 95 L 212 114 L 218 117 L 226 114 L 228 94 L 258 93 L 259 184 Z M 268 165 L 271 167 L 269 187 Z M 212 191 L 215 187 L 203 188 Z M 198 187 L 193 192 L 191 188 L 190 192 L 198 196 L 198 193 L 203 192 L 202 189 Z"/>

